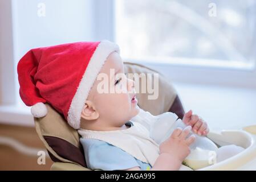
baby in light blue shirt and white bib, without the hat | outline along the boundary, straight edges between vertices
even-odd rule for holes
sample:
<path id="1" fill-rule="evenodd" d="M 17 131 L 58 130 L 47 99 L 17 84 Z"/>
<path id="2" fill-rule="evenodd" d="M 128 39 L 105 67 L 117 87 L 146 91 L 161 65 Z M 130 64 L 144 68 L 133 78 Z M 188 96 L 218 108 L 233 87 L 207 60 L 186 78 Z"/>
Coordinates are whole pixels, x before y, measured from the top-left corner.
<path id="1" fill-rule="evenodd" d="M 185 113 L 183 121 L 190 126 L 186 127 L 183 131 L 180 129 L 174 130 L 170 138 L 160 146 L 149 138 L 147 131 L 143 130 L 145 136 L 137 133 L 134 135 L 132 133 L 134 131 L 129 133 L 127 130 L 131 130 L 132 127 L 143 127 L 137 126 L 138 123 L 128 122 L 139 113 L 134 88 L 135 82 L 125 77 L 123 61 L 117 52 L 112 52 L 108 56 L 100 73 L 105 73 L 105 75 L 110 77 L 110 69 L 114 69 L 118 76 L 109 80 L 109 87 L 115 89 L 115 87 L 121 85 L 121 90 L 124 92 L 97 92 L 97 85 L 101 82 L 99 79 L 95 81 L 91 88 L 82 110 L 80 130 L 78 130 L 79 134 L 82 135 L 80 142 L 84 147 L 88 167 L 105 170 L 179 169 L 182 161 L 189 154 L 189 145 L 195 139 L 194 135 L 186 138 L 189 131 L 193 127 L 195 133 L 200 135 L 208 134 L 209 129 L 206 122 L 197 115 L 193 115 L 192 111 Z M 137 132 L 139 133 L 140 130 Z M 138 140 L 137 143 L 135 143 L 136 140 Z M 146 140 L 148 140 L 147 145 L 144 143 L 145 146 L 140 146 L 143 143 L 139 142 L 146 142 Z M 149 145 L 152 145 L 152 147 Z M 129 147 L 134 148 L 129 150 Z M 136 153 L 137 150 L 144 150 L 144 147 L 146 147 L 145 150 L 148 150 L 145 152 L 159 152 L 159 156 L 156 154 L 156 158 L 156 156 L 151 154 L 153 159 L 147 159 L 149 158 L 148 156 L 139 156 Z M 138 160 L 138 158 L 141 160 Z M 153 166 L 148 164 L 150 160 L 156 160 Z"/>

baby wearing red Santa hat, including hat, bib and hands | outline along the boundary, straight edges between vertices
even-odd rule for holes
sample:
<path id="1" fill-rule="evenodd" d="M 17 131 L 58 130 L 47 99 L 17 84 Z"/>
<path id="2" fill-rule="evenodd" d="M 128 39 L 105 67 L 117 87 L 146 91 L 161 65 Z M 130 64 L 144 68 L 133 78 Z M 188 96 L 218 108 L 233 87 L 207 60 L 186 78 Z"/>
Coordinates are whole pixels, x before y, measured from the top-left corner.
<path id="1" fill-rule="evenodd" d="M 34 117 L 47 114 L 48 102 L 78 130 L 91 169 L 190 169 L 182 165 L 196 140 L 190 131 L 202 136 L 209 132 L 190 110 L 182 119 L 186 127 L 175 128 L 164 141 L 154 140 L 155 117 L 143 117 L 135 82 L 124 75 L 119 47 L 107 40 L 31 49 L 18 63 L 18 76 L 19 93 Z M 107 92 L 102 92 L 105 86 Z M 174 123 L 177 115 L 168 114 L 168 122 Z"/>

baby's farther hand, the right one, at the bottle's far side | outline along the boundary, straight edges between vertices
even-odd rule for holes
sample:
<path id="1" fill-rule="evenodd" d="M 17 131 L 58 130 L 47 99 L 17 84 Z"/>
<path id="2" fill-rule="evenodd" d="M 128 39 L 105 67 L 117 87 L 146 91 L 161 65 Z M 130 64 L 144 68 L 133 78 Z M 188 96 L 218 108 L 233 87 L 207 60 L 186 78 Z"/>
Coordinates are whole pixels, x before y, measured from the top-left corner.
<path id="1" fill-rule="evenodd" d="M 194 133 L 198 135 L 207 135 L 209 133 L 209 128 L 207 123 L 196 114 L 192 114 L 192 110 L 189 110 L 188 113 L 184 114 L 182 121 L 185 125 L 192 126 Z"/>

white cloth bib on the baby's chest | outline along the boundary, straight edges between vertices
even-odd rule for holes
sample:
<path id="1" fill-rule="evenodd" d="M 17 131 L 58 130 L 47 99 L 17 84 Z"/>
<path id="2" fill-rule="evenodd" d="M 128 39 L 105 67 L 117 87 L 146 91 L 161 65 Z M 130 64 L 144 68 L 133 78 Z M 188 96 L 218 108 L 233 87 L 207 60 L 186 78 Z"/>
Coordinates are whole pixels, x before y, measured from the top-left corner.
<path id="1" fill-rule="evenodd" d="M 133 126 L 125 130 L 92 131 L 78 130 L 82 138 L 103 140 L 119 147 L 144 163 L 151 166 L 159 156 L 159 145 L 149 137 L 149 131 L 140 123 L 132 122 Z"/>

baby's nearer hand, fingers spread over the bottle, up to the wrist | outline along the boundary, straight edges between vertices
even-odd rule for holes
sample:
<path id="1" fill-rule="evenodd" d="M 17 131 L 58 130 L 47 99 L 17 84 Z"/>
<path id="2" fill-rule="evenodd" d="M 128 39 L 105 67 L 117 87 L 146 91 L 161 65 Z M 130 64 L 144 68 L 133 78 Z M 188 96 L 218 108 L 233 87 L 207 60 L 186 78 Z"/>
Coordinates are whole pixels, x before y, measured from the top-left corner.
<path id="1" fill-rule="evenodd" d="M 181 163 L 186 158 L 186 156 L 189 155 L 189 146 L 196 139 L 194 135 L 188 137 L 191 129 L 191 126 L 185 127 L 184 130 L 179 127 L 175 129 L 172 135 L 170 135 L 168 139 L 160 144 L 160 154 L 168 154 L 173 156 L 174 158 L 177 158 Z"/>

